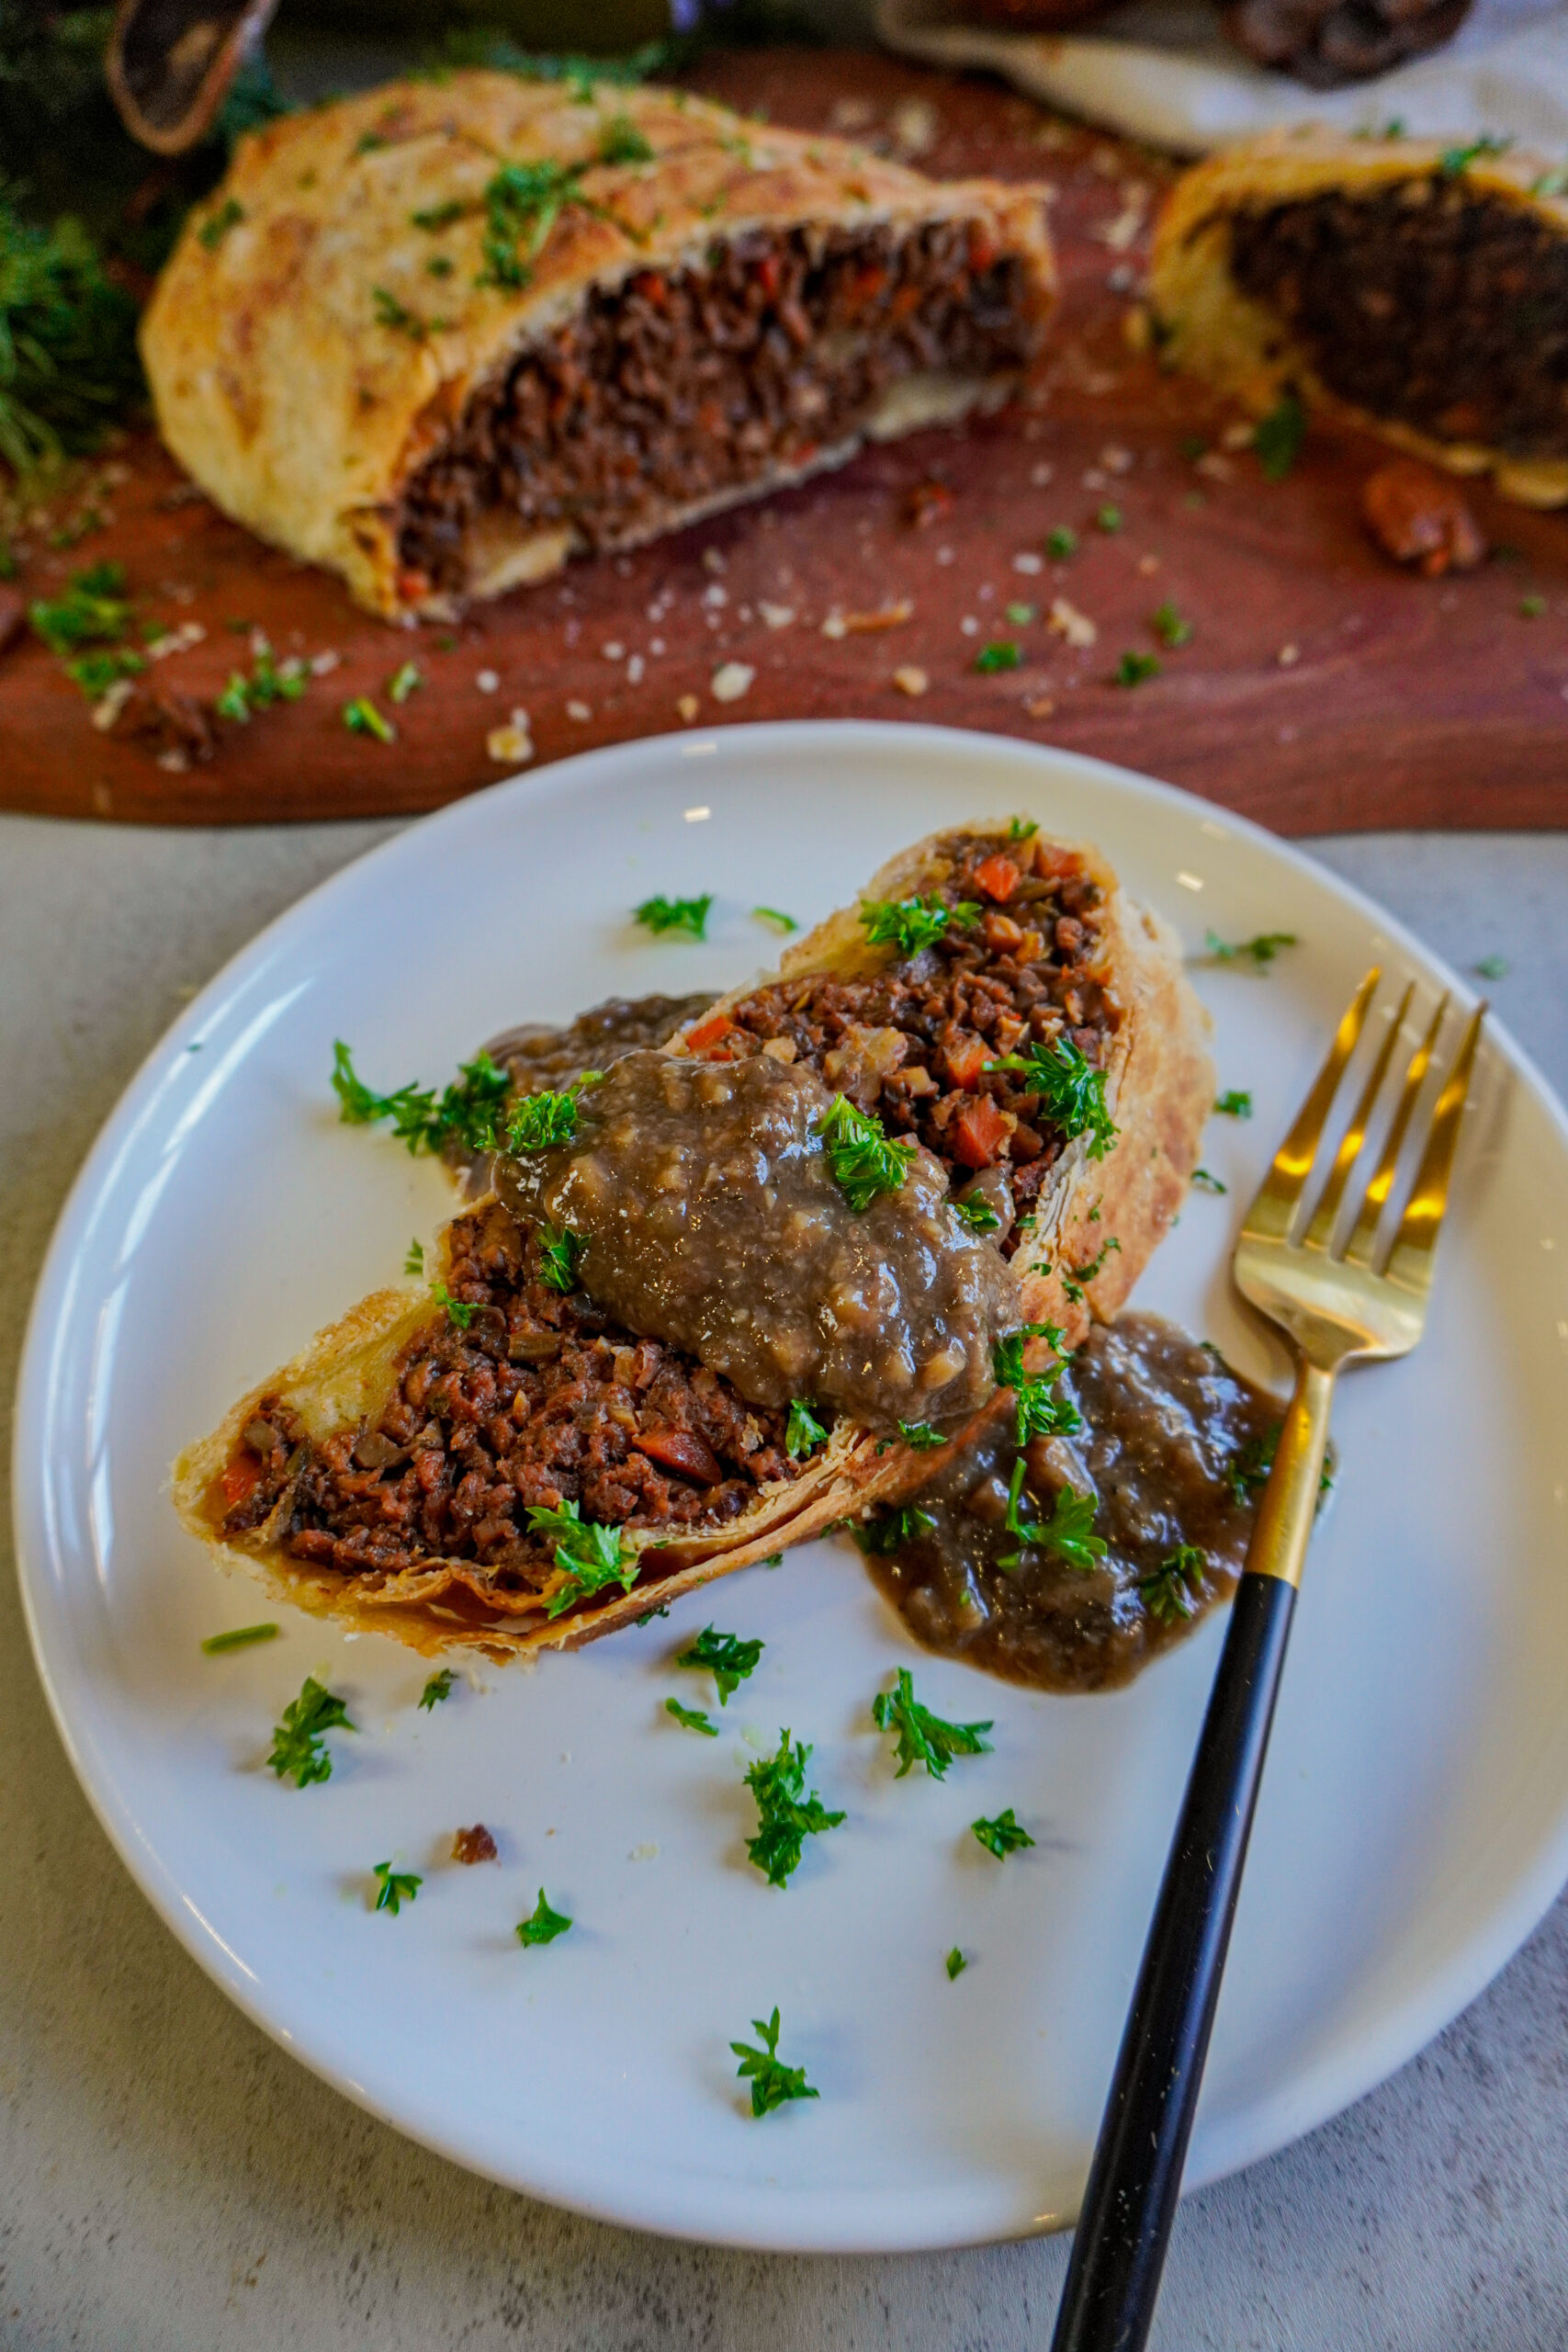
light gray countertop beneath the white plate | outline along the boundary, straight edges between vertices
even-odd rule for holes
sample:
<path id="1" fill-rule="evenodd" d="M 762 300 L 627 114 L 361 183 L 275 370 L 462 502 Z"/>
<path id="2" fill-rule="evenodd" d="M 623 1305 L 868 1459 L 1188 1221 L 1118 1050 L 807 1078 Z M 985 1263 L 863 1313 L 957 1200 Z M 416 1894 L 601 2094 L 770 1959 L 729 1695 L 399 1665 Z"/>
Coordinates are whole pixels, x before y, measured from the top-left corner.
<path id="1" fill-rule="evenodd" d="M 101 1120 L 181 1002 L 386 826 L 0 818 L 0 1385 Z M 1568 837 L 1316 854 L 1455 964 L 1568 1091 Z M 9 1461 L 9 1430 L 5 1458 Z M 9 1543 L 9 1510 L 0 1541 Z M 456 2171 L 207 1983 L 71 1778 L 0 1573 L 0 2345 L 1023 2352 L 1065 2241 L 886 2260 L 665 2244 Z M 1164 2352 L 1561 2352 L 1568 1907 L 1349 2114 L 1182 2206 Z"/>

